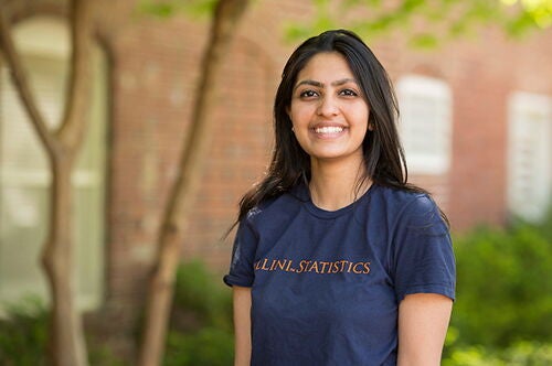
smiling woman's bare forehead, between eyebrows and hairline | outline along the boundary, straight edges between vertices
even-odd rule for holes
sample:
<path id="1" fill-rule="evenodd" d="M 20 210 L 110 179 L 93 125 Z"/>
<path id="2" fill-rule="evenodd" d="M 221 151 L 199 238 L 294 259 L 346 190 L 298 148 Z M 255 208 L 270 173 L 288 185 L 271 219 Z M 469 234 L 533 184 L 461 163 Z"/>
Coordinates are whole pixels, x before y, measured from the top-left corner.
<path id="1" fill-rule="evenodd" d="M 317 82 L 332 82 L 343 78 L 353 78 L 347 60 L 338 52 L 323 52 L 314 55 L 297 74 L 296 84 L 305 79 Z"/>

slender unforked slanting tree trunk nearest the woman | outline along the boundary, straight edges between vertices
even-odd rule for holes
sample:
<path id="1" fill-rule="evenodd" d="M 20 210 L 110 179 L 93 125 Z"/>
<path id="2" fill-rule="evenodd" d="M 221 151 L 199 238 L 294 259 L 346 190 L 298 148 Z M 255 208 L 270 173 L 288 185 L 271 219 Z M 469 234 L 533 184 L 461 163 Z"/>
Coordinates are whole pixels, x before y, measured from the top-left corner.
<path id="1" fill-rule="evenodd" d="M 201 79 L 192 125 L 183 142 L 180 169 L 168 197 L 158 237 L 156 267 L 151 273 L 139 365 L 160 365 L 173 295 L 176 270 L 180 261 L 183 218 L 189 213 L 210 144 L 213 121 L 208 112 L 215 105 L 214 82 L 220 72 L 236 24 L 248 0 L 220 0 L 214 10 L 210 40 L 203 54 Z"/>

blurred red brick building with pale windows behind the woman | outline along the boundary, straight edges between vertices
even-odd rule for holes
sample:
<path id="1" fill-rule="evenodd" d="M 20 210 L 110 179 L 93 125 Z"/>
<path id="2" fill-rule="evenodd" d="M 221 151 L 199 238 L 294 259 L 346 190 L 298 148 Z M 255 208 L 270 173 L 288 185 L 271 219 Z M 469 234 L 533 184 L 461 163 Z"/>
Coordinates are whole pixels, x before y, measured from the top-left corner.
<path id="1" fill-rule="evenodd" d="M 62 34 L 59 28 L 65 26 L 63 1 L 4 3 L 1 6 L 18 21 L 15 30 L 21 28 L 30 67 L 38 74 L 53 73 L 49 65 L 55 71 L 57 61 L 65 57 L 64 46 L 57 50 L 55 45 Z M 86 260 L 79 268 L 87 270 L 82 269 L 79 278 L 88 279 L 79 283 L 83 297 L 95 299 L 84 301 L 88 304 L 84 306 L 105 309 L 106 316 L 117 319 L 117 329 L 125 333 L 142 303 L 160 214 L 190 123 L 209 23 L 185 17 L 151 19 L 131 14 L 134 1 L 112 3 L 98 1 L 104 10 L 96 34 L 99 61 L 93 125 L 97 131 L 91 142 L 96 148 L 91 148 L 91 157 L 95 157 L 92 163 L 85 164 L 89 169 L 83 170 L 84 177 L 95 179 L 86 185 L 83 177 L 82 205 L 87 208 L 78 214 L 79 233 L 88 233 L 88 228 L 95 234 L 82 235 L 86 237 L 83 240 L 92 240 L 83 246 L 93 252 L 82 254 Z M 273 96 L 295 46 L 283 41 L 282 24 L 308 19 L 312 12 L 308 2 L 264 0 L 255 2 L 237 24 L 223 75 L 213 86 L 220 104 L 210 118 L 216 120 L 216 128 L 193 214 L 187 220 L 182 259 L 200 257 L 213 269 L 226 268 L 232 240 L 221 237 L 235 218 L 241 195 L 262 176 L 269 159 Z M 25 28 L 39 15 L 49 21 Z M 31 34 L 40 30 L 44 39 L 33 43 Z M 503 225 L 511 214 L 538 219 L 551 197 L 551 31 L 513 41 L 496 29 L 486 29 L 477 37 L 434 51 L 410 49 L 395 33 L 367 41 L 397 88 L 412 181 L 435 194 L 453 229 Z M 46 203 L 24 201 L 25 190 L 31 189 L 22 186 L 25 182 L 39 186 L 40 201 L 47 189 L 47 174 L 39 180 L 42 183 L 33 181 L 32 174 L 30 181 L 18 177 L 22 176 L 21 164 L 31 164 L 32 159 L 21 158 L 20 164 L 15 155 L 21 150 L 10 148 L 9 141 L 19 138 L 17 133 L 32 132 L 6 127 L 8 120 L 24 116 L 17 111 L 10 115 L 7 106 L 14 99 L 2 58 L 0 67 L 0 206 L 4 223 L 0 227 L 0 283 L 9 288 L 21 266 L 31 266 L 34 277 L 26 280 L 35 284 L 26 288 L 40 292 L 35 260 L 25 259 L 30 254 L 21 255 L 22 265 L 14 268 L 10 262 L 19 249 L 10 246 L 15 241 L 40 246 Z M 32 143 L 31 138 L 24 139 Z M 35 234 L 18 234 L 25 228 Z M 0 299 L 13 299 L 18 291 L 2 292 L 0 286 Z"/>

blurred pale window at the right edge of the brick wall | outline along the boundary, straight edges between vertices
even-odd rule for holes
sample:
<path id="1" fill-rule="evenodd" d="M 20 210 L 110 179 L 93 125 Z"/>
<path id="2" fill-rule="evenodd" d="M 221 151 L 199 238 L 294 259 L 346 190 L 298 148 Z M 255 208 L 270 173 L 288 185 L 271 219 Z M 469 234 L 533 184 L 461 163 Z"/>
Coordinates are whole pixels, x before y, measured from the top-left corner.
<path id="1" fill-rule="evenodd" d="M 509 101 L 508 206 L 537 222 L 551 204 L 552 98 L 514 93 Z"/>

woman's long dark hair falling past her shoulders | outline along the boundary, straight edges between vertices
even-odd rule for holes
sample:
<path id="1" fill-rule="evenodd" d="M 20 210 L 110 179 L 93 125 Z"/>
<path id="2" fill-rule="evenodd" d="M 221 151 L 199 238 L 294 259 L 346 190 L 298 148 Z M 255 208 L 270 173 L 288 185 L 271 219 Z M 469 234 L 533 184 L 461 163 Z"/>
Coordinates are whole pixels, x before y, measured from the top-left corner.
<path id="1" fill-rule="evenodd" d="M 237 220 L 259 203 L 310 179 L 310 157 L 297 142 L 287 110 L 297 75 L 312 56 L 322 52 L 338 52 L 344 56 L 370 109 L 372 131 L 367 132 L 362 143 L 365 176 L 361 176 L 361 182 L 369 177 L 379 185 L 427 193 L 406 182 L 404 151 L 396 129 L 399 107 L 388 73 L 357 34 L 332 30 L 300 44 L 284 67 L 274 103 L 276 141 L 272 162 L 265 177 L 242 197 Z"/>

